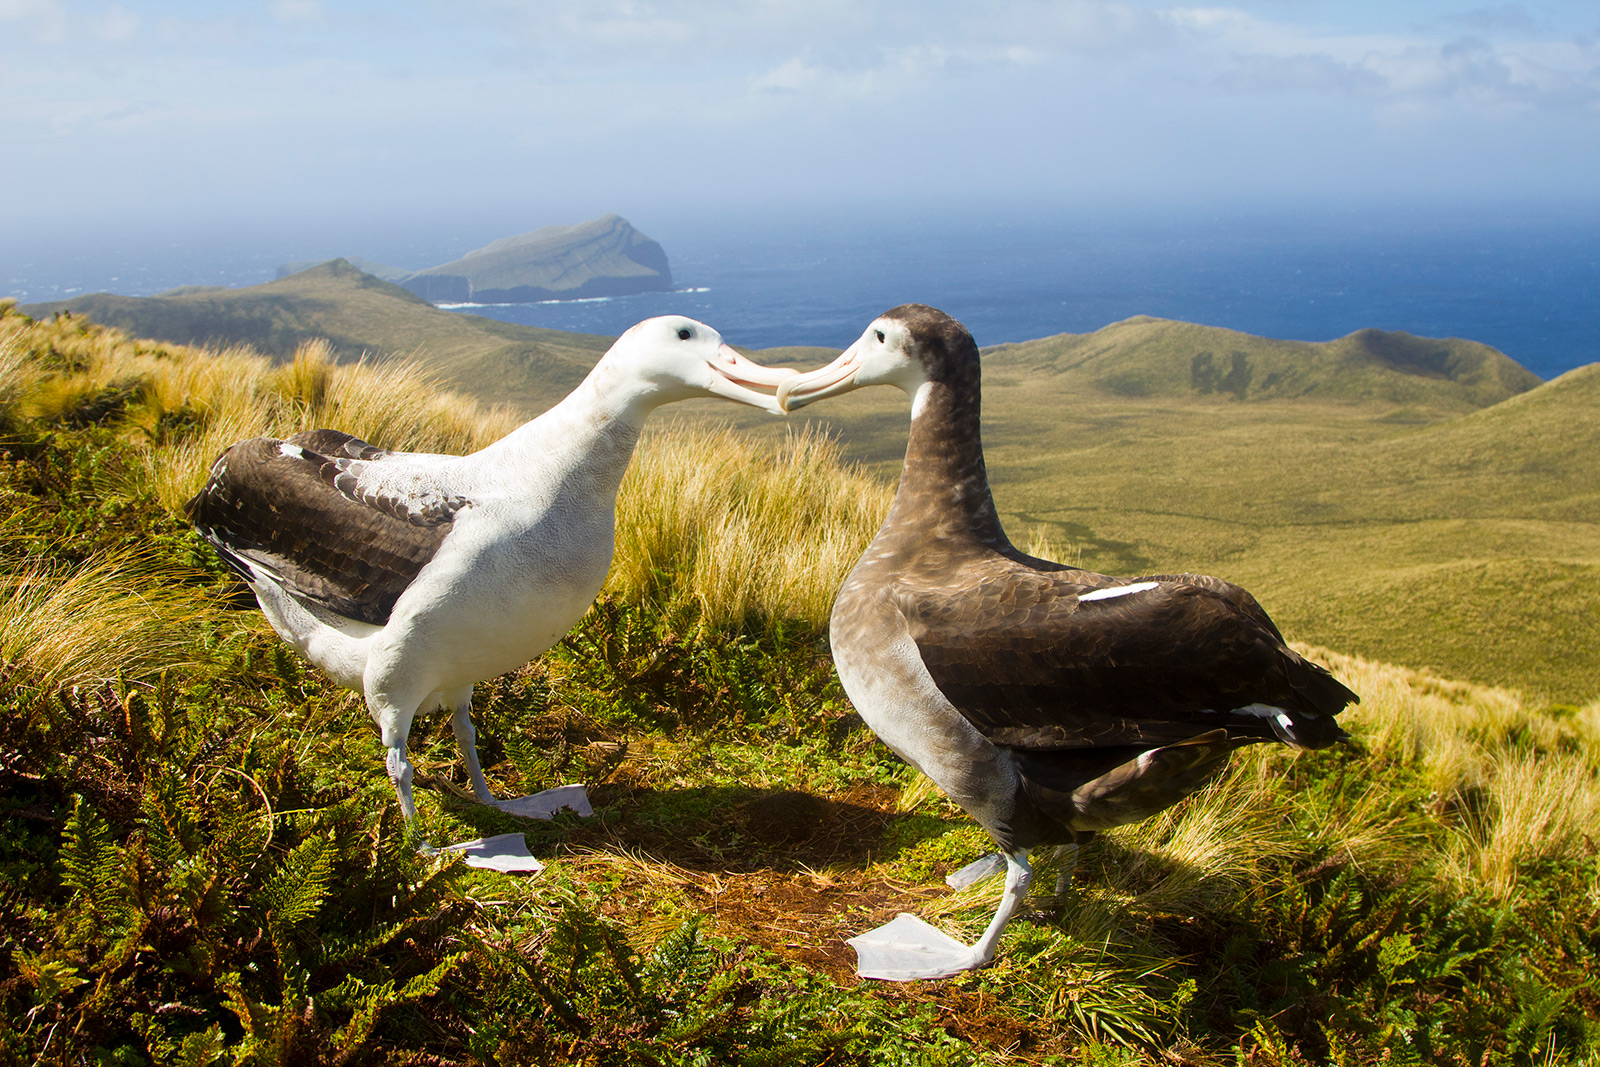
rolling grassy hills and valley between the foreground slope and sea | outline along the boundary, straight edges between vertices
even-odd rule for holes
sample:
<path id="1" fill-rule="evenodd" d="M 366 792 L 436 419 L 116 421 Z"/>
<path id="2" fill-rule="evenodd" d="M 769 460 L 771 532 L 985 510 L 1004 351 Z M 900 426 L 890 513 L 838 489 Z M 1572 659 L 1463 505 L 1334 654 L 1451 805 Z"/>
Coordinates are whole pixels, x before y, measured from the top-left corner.
<path id="1" fill-rule="evenodd" d="M 192 325 L 149 333 L 216 336 L 210 322 L 232 342 L 277 336 L 277 355 L 314 336 L 331 338 L 341 358 L 408 354 L 530 414 L 565 395 L 606 344 L 442 312 L 341 267 L 70 307 L 126 328 L 181 307 Z M 792 366 L 832 355 L 758 354 Z M 1587 699 L 1600 693 L 1589 593 L 1600 453 L 1589 379 L 1574 374 L 1541 384 L 1461 339 L 1365 330 L 1310 344 L 1133 318 L 984 349 L 984 438 L 1019 539 L 1038 533 L 1109 573 L 1221 574 L 1302 640 Z M 672 418 L 765 442 L 808 426 L 893 478 L 907 405 L 870 389 L 790 421 L 710 400 L 677 405 Z"/>

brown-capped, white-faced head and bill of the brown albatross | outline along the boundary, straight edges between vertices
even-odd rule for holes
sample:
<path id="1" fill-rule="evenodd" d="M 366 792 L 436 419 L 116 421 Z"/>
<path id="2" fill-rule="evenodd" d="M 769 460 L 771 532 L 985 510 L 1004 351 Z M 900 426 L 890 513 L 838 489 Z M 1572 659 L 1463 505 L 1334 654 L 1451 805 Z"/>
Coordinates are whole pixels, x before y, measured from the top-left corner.
<path id="1" fill-rule="evenodd" d="M 923 382 L 976 387 L 978 344 L 938 307 L 901 304 L 874 318 L 827 366 L 781 382 L 778 403 L 794 411 L 862 386 L 898 386 L 915 397 Z"/>

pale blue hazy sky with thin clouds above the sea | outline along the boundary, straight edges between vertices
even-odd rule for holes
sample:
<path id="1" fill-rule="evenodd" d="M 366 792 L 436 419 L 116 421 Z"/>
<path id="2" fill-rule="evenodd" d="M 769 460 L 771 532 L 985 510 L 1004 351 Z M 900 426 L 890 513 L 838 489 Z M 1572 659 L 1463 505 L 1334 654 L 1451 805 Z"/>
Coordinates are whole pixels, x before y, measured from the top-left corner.
<path id="1" fill-rule="evenodd" d="M 0 0 L 0 242 L 1363 202 L 1600 205 L 1600 5 Z"/>

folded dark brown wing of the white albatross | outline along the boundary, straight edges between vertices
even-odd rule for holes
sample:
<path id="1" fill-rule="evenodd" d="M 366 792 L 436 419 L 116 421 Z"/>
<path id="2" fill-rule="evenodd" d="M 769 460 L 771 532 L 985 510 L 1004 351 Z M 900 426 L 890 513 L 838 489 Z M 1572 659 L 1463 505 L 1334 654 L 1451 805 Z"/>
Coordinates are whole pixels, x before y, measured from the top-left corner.
<path id="1" fill-rule="evenodd" d="M 362 493 L 357 464 L 387 454 L 338 430 L 251 438 L 218 458 L 184 512 L 243 576 L 254 563 L 301 600 L 382 625 L 466 504 Z"/>

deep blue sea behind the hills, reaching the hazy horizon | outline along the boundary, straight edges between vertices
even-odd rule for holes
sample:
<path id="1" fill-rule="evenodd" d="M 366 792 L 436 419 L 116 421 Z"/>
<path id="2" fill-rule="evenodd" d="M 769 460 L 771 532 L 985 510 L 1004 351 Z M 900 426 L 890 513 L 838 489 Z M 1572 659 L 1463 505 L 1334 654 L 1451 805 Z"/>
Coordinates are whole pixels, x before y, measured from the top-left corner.
<path id="1" fill-rule="evenodd" d="M 979 344 L 1157 315 L 1302 341 L 1365 326 L 1469 338 L 1541 378 L 1600 360 L 1600 211 L 632 221 L 667 250 L 675 291 L 458 310 L 600 334 L 674 312 L 739 346 L 843 347 L 878 312 L 917 301 Z M 280 262 L 334 254 L 416 269 L 538 224 L 32 242 L 0 246 L 0 294 L 256 285 Z"/>

